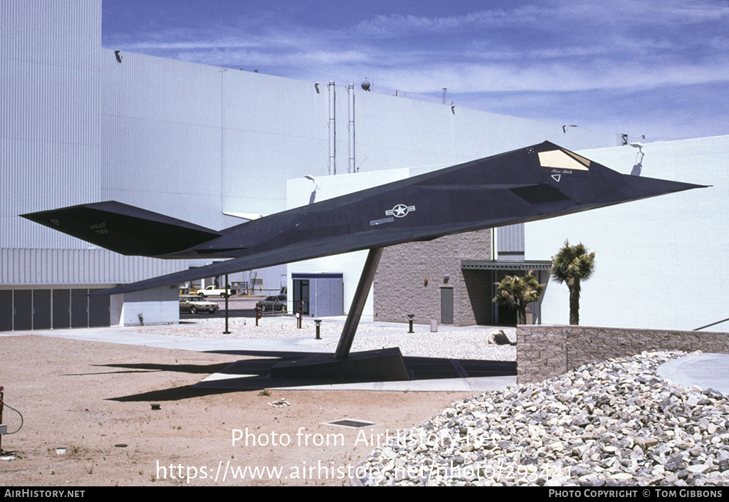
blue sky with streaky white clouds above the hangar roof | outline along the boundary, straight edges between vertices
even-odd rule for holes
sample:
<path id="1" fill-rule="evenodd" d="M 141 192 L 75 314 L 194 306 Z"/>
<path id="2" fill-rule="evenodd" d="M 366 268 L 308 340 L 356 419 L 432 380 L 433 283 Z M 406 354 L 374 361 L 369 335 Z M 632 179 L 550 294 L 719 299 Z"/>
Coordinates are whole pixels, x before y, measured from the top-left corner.
<path id="1" fill-rule="evenodd" d="M 729 1 L 103 0 L 109 49 L 647 140 L 729 134 Z M 406 94 L 407 95 L 407 94 Z"/>

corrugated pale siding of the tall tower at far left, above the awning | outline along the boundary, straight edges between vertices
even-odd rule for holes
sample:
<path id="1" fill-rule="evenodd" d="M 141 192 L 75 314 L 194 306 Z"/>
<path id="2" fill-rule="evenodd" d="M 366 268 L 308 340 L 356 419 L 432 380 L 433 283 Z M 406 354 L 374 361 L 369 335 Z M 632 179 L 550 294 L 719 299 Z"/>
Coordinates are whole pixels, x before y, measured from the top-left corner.
<path id="1" fill-rule="evenodd" d="M 0 247 L 77 247 L 17 215 L 98 195 L 101 1 L 3 1 L 0 26 Z"/>

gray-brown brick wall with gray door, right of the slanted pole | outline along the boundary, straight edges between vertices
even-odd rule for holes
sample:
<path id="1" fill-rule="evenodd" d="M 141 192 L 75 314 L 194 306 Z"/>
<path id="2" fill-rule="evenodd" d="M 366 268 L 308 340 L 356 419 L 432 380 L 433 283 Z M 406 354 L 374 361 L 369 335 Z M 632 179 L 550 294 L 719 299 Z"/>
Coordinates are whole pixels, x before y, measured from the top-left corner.
<path id="1" fill-rule="evenodd" d="M 407 314 L 415 314 L 416 323 L 434 319 L 440 324 L 440 290 L 452 287 L 453 325 L 476 324 L 474 312 L 481 315 L 481 309 L 491 308 L 490 285 L 471 279 L 467 286 L 461 271 L 464 259 L 491 259 L 491 230 L 386 247 L 373 286 L 375 320 L 404 323 Z"/>

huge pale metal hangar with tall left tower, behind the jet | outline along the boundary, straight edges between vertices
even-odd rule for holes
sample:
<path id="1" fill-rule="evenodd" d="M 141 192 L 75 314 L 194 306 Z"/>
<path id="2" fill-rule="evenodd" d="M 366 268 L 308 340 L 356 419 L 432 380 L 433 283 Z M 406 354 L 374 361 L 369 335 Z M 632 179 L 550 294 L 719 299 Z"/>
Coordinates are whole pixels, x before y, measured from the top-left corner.
<path id="1" fill-rule="evenodd" d="M 101 47 L 101 0 L 5 0 L 0 26 L 0 330 L 142 313 L 168 322 L 174 289 L 101 305 L 85 294 L 206 263 L 90 248 L 17 216 L 26 212 L 116 200 L 224 228 L 240 222 L 226 213 L 286 209 L 286 180 L 304 175 L 449 165 L 545 139 L 570 150 L 622 142 L 348 82 L 117 53 Z M 259 271 L 263 289 L 278 290 L 284 273 Z"/>

